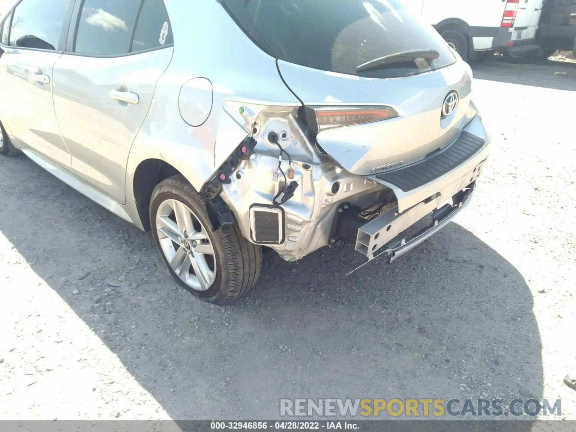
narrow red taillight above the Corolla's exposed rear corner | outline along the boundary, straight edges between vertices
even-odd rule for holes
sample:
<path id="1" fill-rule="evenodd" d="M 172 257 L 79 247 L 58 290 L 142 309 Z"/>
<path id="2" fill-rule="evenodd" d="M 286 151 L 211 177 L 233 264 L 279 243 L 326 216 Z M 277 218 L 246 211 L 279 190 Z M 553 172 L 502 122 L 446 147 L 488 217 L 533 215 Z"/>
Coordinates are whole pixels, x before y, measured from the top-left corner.
<path id="1" fill-rule="evenodd" d="M 316 132 L 332 127 L 378 122 L 397 116 L 398 113 L 391 107 L 322 107 L 306 109 L 309 126 Z"/>

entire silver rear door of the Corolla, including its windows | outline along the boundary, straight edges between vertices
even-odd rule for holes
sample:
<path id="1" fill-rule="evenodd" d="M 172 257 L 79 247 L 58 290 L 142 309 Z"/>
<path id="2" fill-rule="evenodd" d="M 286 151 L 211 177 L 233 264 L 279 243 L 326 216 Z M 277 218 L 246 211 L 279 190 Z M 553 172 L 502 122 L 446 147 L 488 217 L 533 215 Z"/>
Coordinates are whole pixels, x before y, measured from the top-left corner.
<path id="1" fill-rule="evenodd" d="M 78 0 L 54 67 L 54 108 L 75 175 L 124 203 L 128 153 L 173 54 L 163 0 Z"/>

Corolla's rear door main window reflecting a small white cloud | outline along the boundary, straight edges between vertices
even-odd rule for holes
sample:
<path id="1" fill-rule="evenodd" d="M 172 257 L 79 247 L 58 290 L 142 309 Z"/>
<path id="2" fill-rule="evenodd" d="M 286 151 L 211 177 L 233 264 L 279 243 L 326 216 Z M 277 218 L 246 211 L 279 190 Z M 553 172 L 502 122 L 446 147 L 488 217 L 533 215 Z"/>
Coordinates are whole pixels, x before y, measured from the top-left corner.
<path id="1" fill-rule="evenodd" d="M 140 7 L 141 2 L 136 0 L 84 0 L 74 52 L 92 55 L 130 52 Z"/>

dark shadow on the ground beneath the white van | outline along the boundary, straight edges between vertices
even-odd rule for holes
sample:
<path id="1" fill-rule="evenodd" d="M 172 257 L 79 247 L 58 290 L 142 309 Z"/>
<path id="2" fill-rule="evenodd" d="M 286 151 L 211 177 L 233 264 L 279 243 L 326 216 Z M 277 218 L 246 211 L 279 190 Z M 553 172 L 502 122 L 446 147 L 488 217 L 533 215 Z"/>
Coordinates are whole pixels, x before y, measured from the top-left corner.
<path id="1" fill-rule="evenodd" d="M 576 92 L 576 63 L 538 60 L 531 64 L 471 62 L 474 78 Z M 506 97 L 506 95 L 504 95 Z"/>

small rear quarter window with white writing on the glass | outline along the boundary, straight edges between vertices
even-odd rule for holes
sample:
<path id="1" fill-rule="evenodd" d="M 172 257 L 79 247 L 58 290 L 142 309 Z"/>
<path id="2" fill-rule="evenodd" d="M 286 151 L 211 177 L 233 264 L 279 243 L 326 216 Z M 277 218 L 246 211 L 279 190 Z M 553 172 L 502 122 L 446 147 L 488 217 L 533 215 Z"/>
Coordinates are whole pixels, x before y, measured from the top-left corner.
<path id="1" fill-rule="evenodd" d="M 134 33 L 132 52 L 174 44 L 172 26 L 163 0 L 145 0 Z"/>

